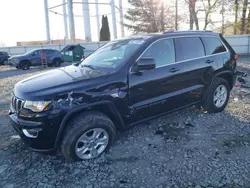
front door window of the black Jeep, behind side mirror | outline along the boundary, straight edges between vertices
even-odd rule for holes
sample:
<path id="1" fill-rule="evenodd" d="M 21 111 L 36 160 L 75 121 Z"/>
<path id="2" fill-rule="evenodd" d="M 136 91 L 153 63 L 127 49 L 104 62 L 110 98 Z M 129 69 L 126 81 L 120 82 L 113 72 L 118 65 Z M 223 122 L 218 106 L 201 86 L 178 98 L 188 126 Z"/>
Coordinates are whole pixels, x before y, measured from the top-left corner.
<path id="1" fill-rule="evenodd" d="M 142 58 L 154 58 L 156 67 L 175 62 L 173 39 L 164 39 L 154 43 L 142 55 Z"/>

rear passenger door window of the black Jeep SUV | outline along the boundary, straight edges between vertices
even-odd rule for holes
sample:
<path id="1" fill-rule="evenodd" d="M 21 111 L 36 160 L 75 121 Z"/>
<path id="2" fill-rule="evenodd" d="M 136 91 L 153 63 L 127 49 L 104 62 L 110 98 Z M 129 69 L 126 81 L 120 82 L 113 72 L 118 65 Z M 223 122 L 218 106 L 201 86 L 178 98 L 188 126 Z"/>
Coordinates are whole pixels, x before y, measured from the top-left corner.
<path id="1" fill-rule="evenodd" d="M 205 56 L 203 43 L 199 37 L 176 38 L 177 61 L 184 61 Z"/>

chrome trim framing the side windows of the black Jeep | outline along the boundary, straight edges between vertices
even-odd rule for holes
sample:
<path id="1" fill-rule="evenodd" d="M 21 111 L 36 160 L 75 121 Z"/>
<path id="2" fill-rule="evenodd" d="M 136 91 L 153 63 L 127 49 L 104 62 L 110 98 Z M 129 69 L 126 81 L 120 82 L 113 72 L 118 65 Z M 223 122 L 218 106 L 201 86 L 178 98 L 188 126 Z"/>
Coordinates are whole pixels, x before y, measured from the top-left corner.
<path id="1" fill-rule="evenodd" d="M 217 56 L 217 55 L 221 55 L 221 54 L 226 54 L 229 52 L 228 48 L 226 47 L 226 45 L 224 44 L 223 41 L 221 41 L 217 36 L 208 36 L 208 35 L 205 35 L 205 36 L 201 36 L 201 35 L 190 35 L 190 36 L 178 36 L 178 37 L 165 37 L 165 38 L 161 38 L 161 39 L 158 39 L 156 41 L 154 41 L 152 44 L 150 44 L 143 52 L 142 54 L 136 59 L 135 63 L 137 61 L 139 61 L 139 59 L 143 56 L 143 54 L 153 45 L 155 44 L 156 42 L 159 42 L 161 40 L 166 40 L 166 39 L 176 39 L 176 38 L 192 38 L 192 37 L 199 37 L 201 38 L 202 40 L 202 37 L 206 37 L 206 38 L 217 38 L 222 44 L 223 46 L 226 48 L 226 52 L 221 52 L 221 53 L 217 53 L 217 54 L 212 54 L 212 55 L 205 55 L 205 56 L 202 56 L 202 57 L 197 57 L 197 58 L 192 58 L 192 59 L 186 59 L 186 60 L 183 60 L 183 61 L 176 61 L 174 63 L 169 63 L 167 65 L 162 65 L 162 66 L 159 66 L 159 67 L 155 67 L 155 69 L 158 69 L 158 68 L 162 68 L 162 67 L 166 67 L 166 66 L 169 66 L 169 65 L 174 65 L 174 64 L 179 64 L 179 63 L 183 63 L 183 62 L 187 62 L 187 61 L 193 61 L 193 60 L 198 60 L 198 59 L 203 59 L 203 58 L 206 58 L 206 57 L 212 57 L 212 56 Z M 203 41 L 201 41 L 203 43 Z M 204 45 L 204 48 L 205 48 L 205 45 Z M 133 64 L 134 65 L 134 64 Z M 132 72 L 131 69 L 133 67 L 133 65 L 129 68 L 129 74 L 133 74 L 135 72 Z"/>

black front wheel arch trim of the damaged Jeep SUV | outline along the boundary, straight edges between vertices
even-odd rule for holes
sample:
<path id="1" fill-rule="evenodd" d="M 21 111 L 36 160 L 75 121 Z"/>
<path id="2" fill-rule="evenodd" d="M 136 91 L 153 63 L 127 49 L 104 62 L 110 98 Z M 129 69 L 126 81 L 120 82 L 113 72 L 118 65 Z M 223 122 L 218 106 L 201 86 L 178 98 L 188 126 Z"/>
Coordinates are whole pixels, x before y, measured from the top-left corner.
<path id="1" fill-rule="evenodd" d="M 90 105 L 81 106 L 81 107 L 78 107 L 78 108 L 71 110 L 64 117 L 64 119 L 60 125 L 60 128 L 58 130 L 58 133 L 57 133 L 55 146 L 54 146 L 55 148 L 60 143 L 62 136 L 64 134 L 64 130 L 65 130 L 68 122 L 70 120 L 72 120 L 75 116 L 79 115 L 79 113 L 84 113 L 87 111 L 101 112 L 111 119 L 111 121 L 114 123 L 115 128 L 117 130 L 123 131 L 126 129 L 125 125 L 124 125 L 124 121 L 123 121 L 120 113 L 118 112 L 115 105 L 111 101 L 102 101 L 102 102 L 97 102 L 97 103 L 90 104 Z"/>

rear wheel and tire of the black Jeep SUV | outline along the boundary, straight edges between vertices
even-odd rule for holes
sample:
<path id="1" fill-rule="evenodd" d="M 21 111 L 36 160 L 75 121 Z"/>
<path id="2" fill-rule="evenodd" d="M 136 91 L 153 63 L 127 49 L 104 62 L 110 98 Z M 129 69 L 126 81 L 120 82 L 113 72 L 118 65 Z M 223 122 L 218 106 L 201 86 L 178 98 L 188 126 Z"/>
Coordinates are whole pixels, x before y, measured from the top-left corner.
<path id="1" fill-rule="evenodd" d="M 223 93 L 225 93 L 226 96 Z M 217 77 L 207 90 L 203 108 L 209 113 L 219 113 L 227 106 L 229 96 L 230 86 L 228 82 L 223 78 Z"/>

